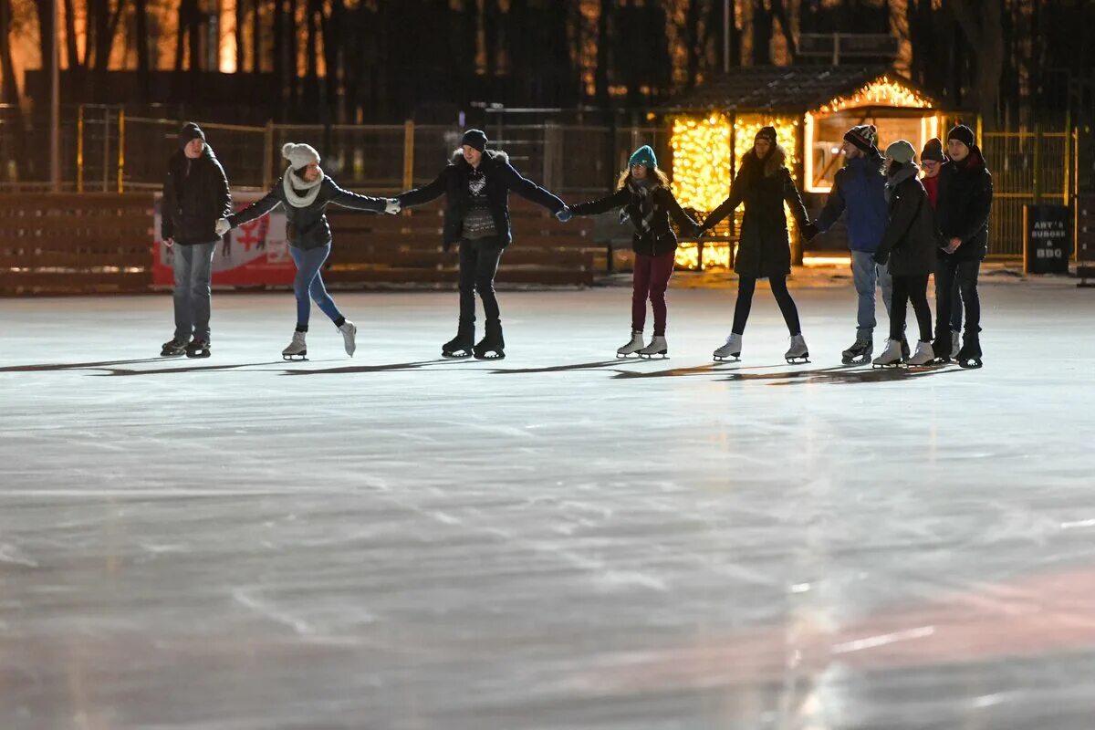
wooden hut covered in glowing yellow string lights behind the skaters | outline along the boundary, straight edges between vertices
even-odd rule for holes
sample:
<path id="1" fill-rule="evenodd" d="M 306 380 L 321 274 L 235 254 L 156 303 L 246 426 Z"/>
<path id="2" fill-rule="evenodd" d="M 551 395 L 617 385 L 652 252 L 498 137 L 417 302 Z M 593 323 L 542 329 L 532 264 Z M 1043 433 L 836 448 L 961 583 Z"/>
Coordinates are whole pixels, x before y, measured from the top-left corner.
<path id="1" fill-rule="evenodd" d="M 942 115 L 935 103 L 885 68 L 750 67 L 715 77 L 672 105 L 672 187 L 682 206 L 713 210 L 729 190 L 734 170 L 752 147 L 757 131 L 775 127 L 787 150 L 791 172 L 807 208 L 811 194 L 828 193 L 842 164 L 844 132 L 861 124 L 878 128 L 879 147 L 908 139 L 921 149 L 937 137 Z M 823 200 L 823 195 L 820 196 Z M 740 219 L 740 212 L 738 213 Z M 789 218 L 789 217 L 788 217 Z M 794 259 L 802 263 L 792 232 Z M 726 243 L 682 245 L 678 265 L 728 265 Z"/>

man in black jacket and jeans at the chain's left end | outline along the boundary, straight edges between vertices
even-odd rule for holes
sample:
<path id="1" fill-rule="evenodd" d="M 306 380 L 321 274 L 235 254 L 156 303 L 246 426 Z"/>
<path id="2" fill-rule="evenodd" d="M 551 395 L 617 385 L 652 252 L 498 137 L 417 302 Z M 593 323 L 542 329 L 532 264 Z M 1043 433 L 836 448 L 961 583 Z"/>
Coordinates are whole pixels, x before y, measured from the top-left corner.
<path id="1" fill-rule="evenodd" d="M 205 132 L 187 123 L 178 132 L 178 151 L 168 163 L 163 183 L 160 235 L 174 252 L 175 335 L 163 344 L 161 356 L 209 356 L 212 256 L 220 240 L 215 225 L 231 211 L 224 169 L 206 143 Z"/>

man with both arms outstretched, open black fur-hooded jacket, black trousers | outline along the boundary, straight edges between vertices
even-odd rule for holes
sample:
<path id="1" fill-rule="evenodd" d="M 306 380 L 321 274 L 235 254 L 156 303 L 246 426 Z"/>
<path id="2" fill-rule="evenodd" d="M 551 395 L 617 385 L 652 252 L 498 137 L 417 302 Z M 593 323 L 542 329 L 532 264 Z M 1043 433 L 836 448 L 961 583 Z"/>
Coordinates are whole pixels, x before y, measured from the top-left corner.
<path id="1" fill-rule="evenodd" d="M 446 358 L 500 359 L 505 355 L 502 315 L 494 291 L 502 253 L 512 242 L 509 223 L 509 193 L 548 208 L 560 220 L 569 218 L 556 196 L 521 176 L 503 151 L 487 150 L 486 135 L 479 129 L 464 132 L 452 161 L 434 182 L 399 196 L 404 208 L 420 206 L 442 195 L 446 251 L 460 244 L 460 322 L 457 336 L 441 346 Z M 475 347 L 475 292 L 483 301 L 486 334 Z"/>

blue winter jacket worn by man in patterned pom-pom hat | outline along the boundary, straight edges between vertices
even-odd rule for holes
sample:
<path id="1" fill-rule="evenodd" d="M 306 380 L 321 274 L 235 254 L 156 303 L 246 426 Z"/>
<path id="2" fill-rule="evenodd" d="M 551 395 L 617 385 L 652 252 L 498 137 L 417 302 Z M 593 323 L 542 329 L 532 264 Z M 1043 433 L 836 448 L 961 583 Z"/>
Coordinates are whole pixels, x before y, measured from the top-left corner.
<path id="1" fill-rule="evenodd" d="M 881 167 L 883 159 L 877 153 L 849 160 L 837 172 L 829 199 L 815 221 L 818 230 L 828 231 L 844 213 L 849 247 L 872 254 L 878 251 L 888 215 Z"/>

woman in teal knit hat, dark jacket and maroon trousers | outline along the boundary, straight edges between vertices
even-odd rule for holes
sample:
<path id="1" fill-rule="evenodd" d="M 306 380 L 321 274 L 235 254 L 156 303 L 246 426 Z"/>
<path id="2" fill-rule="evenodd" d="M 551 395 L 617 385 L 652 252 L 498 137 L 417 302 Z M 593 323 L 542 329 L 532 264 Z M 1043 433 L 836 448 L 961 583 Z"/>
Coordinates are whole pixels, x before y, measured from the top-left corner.
<path id="1" fill-rule="evenodd" d="M 672 218 L 687 235 L 695 235 L 699 224 L 677 202 L 669 189 L 669 179 L 658 169 L 658 159 L 648 144 L 631 155 L 615 193 L 567 209 L 573 216 L 596 216 L 616 208 L 621 209 L 621 222 L 630 220 L 635 228 L 631 244 L 635 252 L 631 340 L 616 350 L 616 357 L 666 356 L 669 351 L 666 344 L 666 289 L 677 255 L 677 234 L 669 220 Z M 654 337 L 649 345 L 643 347 L 647 299 L 654 310 Z"/>

